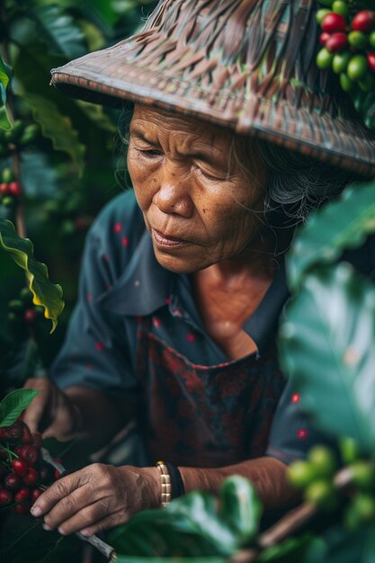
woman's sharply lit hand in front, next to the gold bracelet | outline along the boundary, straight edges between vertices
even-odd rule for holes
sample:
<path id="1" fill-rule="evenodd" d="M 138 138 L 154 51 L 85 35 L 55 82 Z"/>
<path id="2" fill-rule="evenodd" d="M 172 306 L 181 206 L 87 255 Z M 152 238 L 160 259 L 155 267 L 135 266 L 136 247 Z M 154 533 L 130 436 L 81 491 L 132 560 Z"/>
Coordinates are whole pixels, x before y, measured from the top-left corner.
<path id="1" fill-rule="evenodd" d="M 35 502 L 47 530 L 85 536 L 128 522 L 132 514 L 160 504 L 157 468 L 94 463 L 58 479 Z"/>

